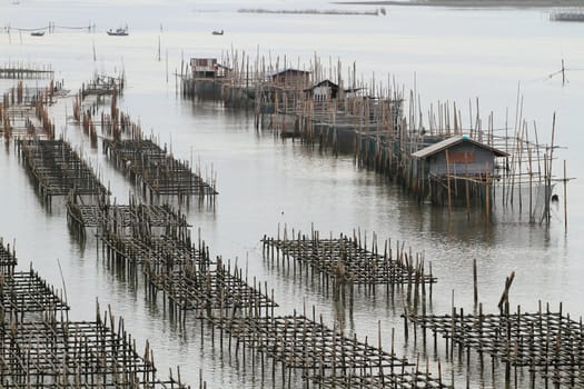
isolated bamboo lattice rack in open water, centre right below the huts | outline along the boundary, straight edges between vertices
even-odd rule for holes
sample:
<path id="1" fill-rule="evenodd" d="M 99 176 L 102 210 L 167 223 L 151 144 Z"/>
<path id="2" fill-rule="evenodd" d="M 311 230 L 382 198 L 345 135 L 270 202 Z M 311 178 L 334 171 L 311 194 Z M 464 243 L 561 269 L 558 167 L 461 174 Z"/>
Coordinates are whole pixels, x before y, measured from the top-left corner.
<path id="1" fill-rule="evenodd" d="M 432 286 L 436 278 L 426 272 L 424 256 L 414 255 L 412 249 L 407 251 L 405 243 L 397 241 L 395 250 L 392 248 L 389 240 L 385 241 L 383 253 L 377 246 L 377 236 L 374 233 L 372 246 L 367 248 L 367 238 L 362 240 L 360 231 L 354 231 L 353 237 L 340 235 L 334 239 L 333 235 L 327 238 L 320 238 L 318 231 L 313 230 L 309 236 L 293 231 L 293 239 L 287 238 L 286 230 L 284 238 L 263 239 L 264 258 L 268 261 L 280 262 L 281 266 L 291 266 L 296 271 L 303 273 L 303 267 L 306 273 L 310 270 L 310 277 L 315 275 L 323 278 L 326 288 L 333 285 L 336 296 L 343 296 L 345 287 L 349 288 L 350 296 L 355 286 L 367 286 L 372 289 L 375 286 L 385 285 L 389 287 L 407 286 L 408 299 L 412 292 L 417 296 L 419 291 L 426 295 L 426 285 Z M 432 298 L 432 287 L 429 288 Z"/>

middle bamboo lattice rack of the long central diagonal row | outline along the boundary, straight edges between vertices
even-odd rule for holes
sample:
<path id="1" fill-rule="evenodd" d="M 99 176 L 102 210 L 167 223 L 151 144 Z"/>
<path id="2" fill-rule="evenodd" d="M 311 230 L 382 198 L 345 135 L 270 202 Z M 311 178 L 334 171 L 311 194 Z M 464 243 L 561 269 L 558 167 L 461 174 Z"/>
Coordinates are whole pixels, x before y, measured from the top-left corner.
<path id="1" fill-rule="evenodd" d="M 199 249 L 168 237 L 148 241 L 107 233 L 101 237 L 108 262 L 137 275 L 141 266 L 148 296 L 162 293 L 164 303 L 175 308 L 185 320 L 185 311 L 196 310 L 212 316 L 218 310 L 254 310 L 258 313 L 276 306 L 267 287 L 249 286 L 241 269 L 227 267 L 220 260 L 211 263 L 205 242 Z"/>

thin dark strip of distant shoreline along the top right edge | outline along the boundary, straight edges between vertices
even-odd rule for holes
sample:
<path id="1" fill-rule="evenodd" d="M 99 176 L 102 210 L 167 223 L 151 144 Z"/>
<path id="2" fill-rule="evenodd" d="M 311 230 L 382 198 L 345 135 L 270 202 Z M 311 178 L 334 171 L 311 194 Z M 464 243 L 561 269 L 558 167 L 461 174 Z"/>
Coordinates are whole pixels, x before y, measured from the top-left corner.
<path id="1" fill-rule="evenodd" d="M 352 6 L 430 6 L 461 8 L 557 8 L 584 7 L 582 0 L 380 0 L 380 1 L 334 1 L 335 4 Z"/>

